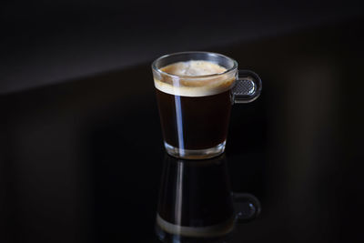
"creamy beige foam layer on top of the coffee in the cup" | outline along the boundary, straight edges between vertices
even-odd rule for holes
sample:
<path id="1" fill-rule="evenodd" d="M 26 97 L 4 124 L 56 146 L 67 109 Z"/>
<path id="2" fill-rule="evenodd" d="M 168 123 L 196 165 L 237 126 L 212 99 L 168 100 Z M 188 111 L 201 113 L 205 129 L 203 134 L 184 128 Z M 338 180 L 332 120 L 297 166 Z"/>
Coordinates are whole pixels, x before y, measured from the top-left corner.
<path id="1" fill-rule="evenodd" d="M 231 88 L 236 72 L 228 72 L 223 66 L 208 61 L 178 62 L 161 68 L 167 74 L 160 80 L 155 76 L 155 86 L 174 96 L 212 96 Z M 208 76 L 222 74 L 219 76 Z"/>

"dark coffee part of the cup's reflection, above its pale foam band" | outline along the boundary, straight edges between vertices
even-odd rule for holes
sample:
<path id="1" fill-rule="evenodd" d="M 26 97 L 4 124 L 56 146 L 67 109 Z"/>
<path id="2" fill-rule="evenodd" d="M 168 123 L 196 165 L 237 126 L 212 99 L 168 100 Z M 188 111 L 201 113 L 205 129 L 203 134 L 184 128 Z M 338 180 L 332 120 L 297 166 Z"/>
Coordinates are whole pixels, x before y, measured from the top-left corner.
<path id="1" fill-rule="evenodd" d="M 218 225 L 235 218 L 225 156 L 182 160 L 165 156 L 158 215 L 186 227 Z"/>

